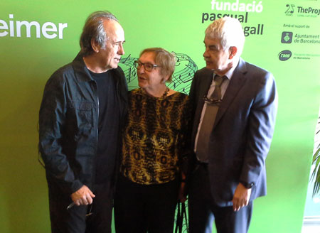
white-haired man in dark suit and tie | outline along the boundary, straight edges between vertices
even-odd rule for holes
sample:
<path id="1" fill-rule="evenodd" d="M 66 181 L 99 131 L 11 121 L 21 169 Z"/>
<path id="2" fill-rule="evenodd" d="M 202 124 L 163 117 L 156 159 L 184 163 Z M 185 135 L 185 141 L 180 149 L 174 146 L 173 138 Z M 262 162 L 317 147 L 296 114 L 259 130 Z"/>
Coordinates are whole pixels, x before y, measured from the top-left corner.
<path id="1" fill-rule="evenodd" d="M 235 18 L 208 26 L 190 97 L 195 166 L 189 188 L 190 232 L 247 232 L 252 200 L 266 195 L 265 159 L 277 113 L 270 72 L 240 55 L 245 36 Z"/>

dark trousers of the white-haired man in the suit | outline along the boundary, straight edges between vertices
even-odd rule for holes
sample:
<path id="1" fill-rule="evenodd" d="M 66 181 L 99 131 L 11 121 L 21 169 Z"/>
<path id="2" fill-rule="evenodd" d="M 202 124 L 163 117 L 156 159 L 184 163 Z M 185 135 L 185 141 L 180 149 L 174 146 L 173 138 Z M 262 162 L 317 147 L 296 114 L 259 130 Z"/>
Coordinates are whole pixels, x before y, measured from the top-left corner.
<path id="1" fill-rule="evenodd" d="M 210 192 L 208 168 L 200 165 L 191 178 L 188 197 L 189 232 L 211 233 L 213 221 L 218 233 L 246 233 L 249 229 L 252 202 L 238 212 L 232 206 L 219 207 Z"/>

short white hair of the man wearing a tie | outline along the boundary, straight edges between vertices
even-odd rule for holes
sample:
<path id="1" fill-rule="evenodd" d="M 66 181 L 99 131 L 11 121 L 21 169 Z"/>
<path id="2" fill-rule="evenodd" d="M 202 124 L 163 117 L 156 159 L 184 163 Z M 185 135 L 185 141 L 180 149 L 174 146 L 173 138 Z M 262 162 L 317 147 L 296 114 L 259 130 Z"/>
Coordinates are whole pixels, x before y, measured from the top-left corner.
<path id="1" fill-rule="evenodd" d="M 206 29 L 206 38 L 218 38 L 223 50 L 231 46 L 237 47 L 237 55 L 240 56 L 245 44 L 245 34 L 243 33 L 240 21 L 237 18 L 223 17 L 210 23 Z"/>

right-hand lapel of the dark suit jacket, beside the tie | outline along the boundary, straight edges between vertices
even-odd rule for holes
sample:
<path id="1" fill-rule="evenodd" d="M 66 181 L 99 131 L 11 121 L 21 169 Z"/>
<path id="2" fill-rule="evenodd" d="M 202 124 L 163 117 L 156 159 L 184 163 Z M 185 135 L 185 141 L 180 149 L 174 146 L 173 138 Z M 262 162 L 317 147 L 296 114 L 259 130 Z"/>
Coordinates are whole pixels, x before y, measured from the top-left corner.
<path id="1" fill-rule="evenodd" d="M 233 99 L 235 99 L 237 96 L 242 85 L 245 83 L 245 72 L 247 72 L 245 61 L 240 58 L 239 64 L 235 68 L 233 77 L 230 80 L 227 90 L 225 91 L 225 95 L 223 96 L 223 102 L 220 104 L 218 109 L 217 116 L 215 117 L 215 123 L 213 124 L 213 129 L 223 117 L 223 114 L 225 114 L 225 111 L 228 109 L 230 104 L 233 102 Z"/>

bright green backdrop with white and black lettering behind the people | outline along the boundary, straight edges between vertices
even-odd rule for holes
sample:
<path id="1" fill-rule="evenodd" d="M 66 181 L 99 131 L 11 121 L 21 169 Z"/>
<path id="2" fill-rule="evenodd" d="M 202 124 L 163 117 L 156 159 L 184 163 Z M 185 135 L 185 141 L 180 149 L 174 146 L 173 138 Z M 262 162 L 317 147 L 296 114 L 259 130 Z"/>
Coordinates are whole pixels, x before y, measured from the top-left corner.
<path id="1" fill-rule="evenodd" d="M 185 92 L 192 72 L 205 65 L 210 19 L 228 13 L 242 21 L 250 33 L 242 58 L 270 70 L 279 92 L 268 195 L 255 200 L 250 232 L 300 232 L 320 100 L 318 0 L 1 1 L 1 232 L 50 232 L 45 172 L 37 160 L 43 87 L 54 70 L 73 60 L 85 18 L 101 9 L 124 28 L 124 69 L 142 49 L 164 47 L 181 55 L 182 65 L 193 65 L 175 75 L 183 77 L 176 84 Z M 137 86 L 134 72 L 127 72 L 130 87 Z"/>

